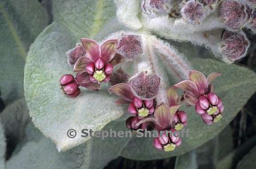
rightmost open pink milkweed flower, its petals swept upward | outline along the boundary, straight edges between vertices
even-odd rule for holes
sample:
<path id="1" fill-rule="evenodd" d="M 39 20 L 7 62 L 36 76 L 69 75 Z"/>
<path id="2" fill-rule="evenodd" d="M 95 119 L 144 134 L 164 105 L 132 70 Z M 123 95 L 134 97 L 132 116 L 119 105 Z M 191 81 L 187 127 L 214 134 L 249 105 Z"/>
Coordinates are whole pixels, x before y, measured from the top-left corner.
<path id="1" fill-rule="evenodd" d="M 200 114 L 204 123 L 217 123 L 222 118 L 224 106 L 221 99 L 213 92 L 210 84 L 221 73 L 211 73 L 206 78 L 203 73 L 192 70 L 189 73 L 189 80 L 176 84 L 177 88 L 184 90 L 184 100 L 195 106 L 196 113 Z"/>

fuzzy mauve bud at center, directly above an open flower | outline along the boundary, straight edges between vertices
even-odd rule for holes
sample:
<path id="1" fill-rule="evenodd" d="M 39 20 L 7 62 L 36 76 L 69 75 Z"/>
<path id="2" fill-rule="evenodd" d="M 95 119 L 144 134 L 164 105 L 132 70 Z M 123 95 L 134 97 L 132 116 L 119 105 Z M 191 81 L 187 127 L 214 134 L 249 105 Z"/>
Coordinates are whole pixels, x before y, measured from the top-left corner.
<path id="1" fill-rule="evenodd" d="M 132 78 L 128 83 L 131 85 L 135 96 L 142 100 L 148 100 L 153 99 L 158 94 L 160 77 L 144 71 Z"/>

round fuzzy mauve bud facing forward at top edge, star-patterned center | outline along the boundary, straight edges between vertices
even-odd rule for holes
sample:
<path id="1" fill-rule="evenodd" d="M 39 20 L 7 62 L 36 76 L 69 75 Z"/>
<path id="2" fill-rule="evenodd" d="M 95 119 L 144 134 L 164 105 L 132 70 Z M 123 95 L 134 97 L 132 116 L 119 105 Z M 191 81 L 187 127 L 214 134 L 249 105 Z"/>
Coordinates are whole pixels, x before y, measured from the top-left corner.
<path id="1" fill-rule="evenodd" d="M 185 1 L 182 4 L 180 13 L 188 23 L 196 25 L 199 25 L 208 15 L 206 8 L 198 0 Z"/>

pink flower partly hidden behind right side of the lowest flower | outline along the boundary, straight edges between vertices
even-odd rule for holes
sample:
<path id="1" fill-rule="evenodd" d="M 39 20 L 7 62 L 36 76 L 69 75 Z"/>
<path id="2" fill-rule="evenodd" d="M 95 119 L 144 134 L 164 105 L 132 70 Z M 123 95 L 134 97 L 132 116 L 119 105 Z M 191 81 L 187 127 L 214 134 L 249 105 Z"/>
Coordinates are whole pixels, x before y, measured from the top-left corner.
<path id="1" fill-rule="evenodd" d="M 178 106 L 182 103 L 181 97 L 175 86 L 167 89 L 167 97 L 169 106 Z M 182 130 L 187 125 L 188 115 L 185 111 L 177 110 L 173 116 L 173 128 L 176 131 Z"/>

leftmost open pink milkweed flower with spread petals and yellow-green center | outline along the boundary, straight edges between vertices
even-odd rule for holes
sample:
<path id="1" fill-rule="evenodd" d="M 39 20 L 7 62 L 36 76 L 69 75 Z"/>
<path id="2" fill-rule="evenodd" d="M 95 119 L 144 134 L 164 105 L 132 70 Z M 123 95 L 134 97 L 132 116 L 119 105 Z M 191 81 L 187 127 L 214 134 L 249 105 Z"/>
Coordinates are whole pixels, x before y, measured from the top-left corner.
<path id="1" fill-rule="evenodd" d="M 108 82 L 113 67 L 124 61 L 122 56 L 116 54 L 117 40 L 107 40 L 101 46 L 88 38 L 81 38 L 81 42 L 86 55 L 77 59 L 73 70 L 79 73 L 86 72 L 93 83 Z"/>

